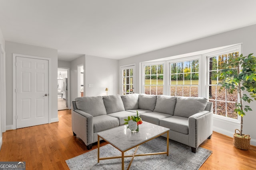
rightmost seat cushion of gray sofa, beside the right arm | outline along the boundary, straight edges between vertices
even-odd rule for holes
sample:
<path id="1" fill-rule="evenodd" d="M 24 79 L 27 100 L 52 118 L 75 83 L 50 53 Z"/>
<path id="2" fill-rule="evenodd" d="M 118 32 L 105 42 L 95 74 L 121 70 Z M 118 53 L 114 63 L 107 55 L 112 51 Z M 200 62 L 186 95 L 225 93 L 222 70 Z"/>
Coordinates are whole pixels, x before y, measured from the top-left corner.
<path id="1" fill-rule="evenodd" d="M 159 125 L 172 131 L 188 134 L 188 118 L 180 116 L 167 117 L 159 121 Z"/>

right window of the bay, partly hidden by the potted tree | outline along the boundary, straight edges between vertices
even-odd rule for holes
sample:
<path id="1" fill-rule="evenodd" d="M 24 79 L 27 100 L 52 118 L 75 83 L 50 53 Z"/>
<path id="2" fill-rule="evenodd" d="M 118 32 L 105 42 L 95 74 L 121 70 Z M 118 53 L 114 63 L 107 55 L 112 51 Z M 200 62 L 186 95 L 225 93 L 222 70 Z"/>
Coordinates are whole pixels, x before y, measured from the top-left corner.
<path id="1" fill-rule="evenodd" d="M 218 72 L 223 69 L 221 63 L 226 63 L 230 55 L 238 57 L 239 52 L 232 51 L 208 57 L 208 98 L 210 102 L 213 102 L 215 115 L 238 119 L 237 113 L 234 112 L 235 103 L 238 101 L 238 92 L 234 91 L 233 94 L 230 94 L 226 89 L 220 91 L 221 85 L 218 85 L 222 81 L 218 76 Z"/>

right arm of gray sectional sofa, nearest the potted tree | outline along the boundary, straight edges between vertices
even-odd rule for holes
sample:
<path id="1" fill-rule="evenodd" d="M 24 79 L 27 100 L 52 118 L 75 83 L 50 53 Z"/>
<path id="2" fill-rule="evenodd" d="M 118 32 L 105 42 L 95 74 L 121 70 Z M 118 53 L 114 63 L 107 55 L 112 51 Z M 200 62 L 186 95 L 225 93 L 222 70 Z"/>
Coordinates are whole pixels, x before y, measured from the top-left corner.
<path id="1" fill-rule="evenodd" d="M 188 132 L 190 147 L 197 148 L 212 135 L 212 111 L 201 111 L 188 117 Z"/>

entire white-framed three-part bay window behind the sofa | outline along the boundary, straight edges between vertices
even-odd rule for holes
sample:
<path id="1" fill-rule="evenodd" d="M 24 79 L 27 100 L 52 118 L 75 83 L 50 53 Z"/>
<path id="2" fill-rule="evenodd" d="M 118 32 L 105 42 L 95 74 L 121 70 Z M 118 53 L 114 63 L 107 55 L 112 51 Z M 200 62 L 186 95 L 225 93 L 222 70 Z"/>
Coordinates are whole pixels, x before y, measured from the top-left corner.
<path id="1" fill-rule="evenodd" d="M 208 98 L 213 102 L 214 117 L 238 122 L 240 117 L 234 112 L 238 93 L 219 91 L 218 83 L 222 80 L 218 72 L 223 69 L 220 64 L 227 62 L 230 55 L 238 56 L 240 49 L 241 45 L 234 45 L 200 51 L 193 56 L 172 56 L 166 61 L 142 63 L 141 92 Z"/>

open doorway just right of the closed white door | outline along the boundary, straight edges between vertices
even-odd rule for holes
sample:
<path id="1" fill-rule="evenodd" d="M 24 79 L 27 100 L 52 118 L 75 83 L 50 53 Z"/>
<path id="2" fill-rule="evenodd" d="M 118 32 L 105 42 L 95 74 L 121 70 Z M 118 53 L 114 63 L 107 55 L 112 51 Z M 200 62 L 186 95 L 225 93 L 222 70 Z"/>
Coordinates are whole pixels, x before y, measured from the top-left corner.
<path id="1" fill-rule="evenodd" d="M 58 110 L 69 108 L 68 68 L 58 68 Z"/>

